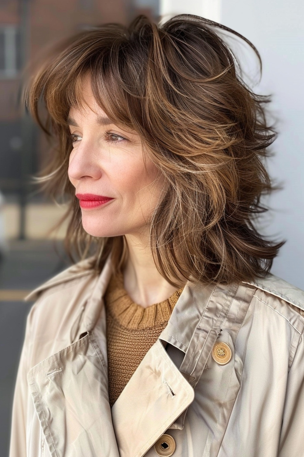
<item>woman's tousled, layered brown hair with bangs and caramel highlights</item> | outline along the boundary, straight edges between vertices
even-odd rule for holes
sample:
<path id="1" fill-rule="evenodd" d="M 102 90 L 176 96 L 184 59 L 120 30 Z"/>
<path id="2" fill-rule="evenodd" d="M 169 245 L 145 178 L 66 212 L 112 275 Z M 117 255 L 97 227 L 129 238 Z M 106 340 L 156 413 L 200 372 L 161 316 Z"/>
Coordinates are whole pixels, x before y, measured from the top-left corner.
<path id="1" fill-rule="evenodd" d="M 99 106 L 114 123 L 139 133 L 166 178 L 149 226 L 155 263 L 171 284 L 181 277 L 232 282 L 264 276 L 282 245 L 263 239 L 252 224 L 265 211 L 261 196 L 272 189 L 261 161 L 276 136 L 263 108 L 269 97 L 249 90 L 216 27 L 245 40 L 261 64 L 252 43 L 216 22 L 180 15 L 158 26 L 139 16 L 129 27 L 106 24 L 70 38 L 31 80 L 29 109 L 59 142 L 46 179 L 53 195 L 71 196 L 67 246 L 85 256 L 97 244 L 97 270 L 110 252 L 121 268 L 124 237 L 93 239 L 84 232 L 67 179 L 67 117 L 81 106 L 87 74 Z"/>

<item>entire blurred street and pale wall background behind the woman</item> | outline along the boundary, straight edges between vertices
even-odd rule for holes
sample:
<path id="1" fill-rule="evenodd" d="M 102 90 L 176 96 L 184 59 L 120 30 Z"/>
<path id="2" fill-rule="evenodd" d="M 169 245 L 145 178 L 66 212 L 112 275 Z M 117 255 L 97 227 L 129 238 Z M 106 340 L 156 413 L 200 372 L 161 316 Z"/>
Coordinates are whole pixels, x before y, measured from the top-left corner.
<path id="1" fill-rule="evenodd" d="M 272 211 L 261 224 L 265 234 L 286 239 L 272 272 L 304 289 L 304 3 L 300 0 L 1 0 L 0 2 L 0 456 L 8 455 L 10 408 L 16 369 L 34 287 L 66 268 L 65 226 L 50 234 L 65 208 L 49 201 L 31 183 L 46 163 L 49 147 L 18 106 L 21 72 L 45 46 L 103 22 L 128 23 L 144 13 L 169 19 L 191 13 L 231 27 L 258 48 L 263 61 L 237 40 L 227 41 L 245 69 L 245 80 L 261 94 L 278 139 L 268 161 L 283 185 L 267 201 Z M 302 133 L 301 133 L 302 132 Z"/>

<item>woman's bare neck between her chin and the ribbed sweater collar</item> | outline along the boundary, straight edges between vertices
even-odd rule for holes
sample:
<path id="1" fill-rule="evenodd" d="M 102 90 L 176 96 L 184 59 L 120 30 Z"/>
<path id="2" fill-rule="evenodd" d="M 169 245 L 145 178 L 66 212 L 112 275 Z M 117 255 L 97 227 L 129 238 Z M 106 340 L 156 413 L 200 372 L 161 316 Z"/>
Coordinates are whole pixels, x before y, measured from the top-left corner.
<path id="1" fill-rule="evenodd" d="M 148 236 L 126 235 L 128 259 L 124 268 L 124 288 L 134 303 L 147 308 L 169 298 L 179 287 L 172 286 L 157 270 Z"/>

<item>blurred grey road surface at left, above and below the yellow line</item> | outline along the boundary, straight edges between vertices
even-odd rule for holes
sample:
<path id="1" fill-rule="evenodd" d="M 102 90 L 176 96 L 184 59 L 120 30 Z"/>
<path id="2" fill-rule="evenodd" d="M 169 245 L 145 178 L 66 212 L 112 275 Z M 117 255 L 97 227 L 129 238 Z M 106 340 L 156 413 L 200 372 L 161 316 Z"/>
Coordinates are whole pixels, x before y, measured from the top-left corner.
<path id="1" fill-rule="evenodd" d="M 15 241 L 0 266 L 0 289 L 31 290 L 68 266 L 62 245 L 45 241 Z M 8 456 L 11 404 L 32 303 L 0 301 L 0 457 Z"/>

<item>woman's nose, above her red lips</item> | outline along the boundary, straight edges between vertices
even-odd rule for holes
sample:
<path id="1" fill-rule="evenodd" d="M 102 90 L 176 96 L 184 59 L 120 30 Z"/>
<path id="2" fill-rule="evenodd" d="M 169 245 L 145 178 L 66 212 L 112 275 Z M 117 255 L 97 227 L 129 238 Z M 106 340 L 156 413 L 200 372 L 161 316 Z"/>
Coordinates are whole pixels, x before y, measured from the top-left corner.
<path id="1" fill-rule="evenodd" d="M 70 155 L 68 167 L 70 181 L 98 180 L 102 175 L 98 155 L 98 151 L 96 151 L 93 144 L 82 139 L 81 144 L 74 148 Z"/>

